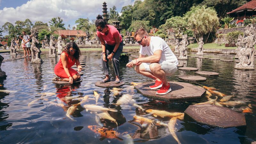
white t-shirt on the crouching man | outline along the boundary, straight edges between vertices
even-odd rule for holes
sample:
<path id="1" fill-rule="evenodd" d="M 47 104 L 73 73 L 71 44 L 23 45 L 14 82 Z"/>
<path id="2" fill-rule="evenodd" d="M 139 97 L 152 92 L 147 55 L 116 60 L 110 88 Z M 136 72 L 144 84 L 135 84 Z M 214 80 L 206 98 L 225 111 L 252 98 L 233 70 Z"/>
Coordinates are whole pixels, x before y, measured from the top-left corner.
<path id="1" fill-rule="evenodd" d="M 176 56 L 173 54 L 169 45 L 166 44 L 166 42 L 161 37 L 151 36 L 149 46 L 140 46 L 140 54 L 142 55 L 151 56 L 154 55 L 154 52 L 157 50 L 162 51 L 160 61 L 171 62 L 174 63 L 176 66 L 179 64 Z"/>

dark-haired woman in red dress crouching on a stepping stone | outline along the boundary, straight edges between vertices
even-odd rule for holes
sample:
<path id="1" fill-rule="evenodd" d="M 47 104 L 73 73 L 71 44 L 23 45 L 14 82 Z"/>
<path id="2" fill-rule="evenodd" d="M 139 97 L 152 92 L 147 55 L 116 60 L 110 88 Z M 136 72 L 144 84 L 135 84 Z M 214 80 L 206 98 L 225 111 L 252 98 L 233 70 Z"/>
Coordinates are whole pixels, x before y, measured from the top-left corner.
<path id="1" fill-rule="evenodd" d="M 64 81 L 73 84 L 73 81 L 77 81 L 81 76 L 77 71 L 82 70 L 82 66 L 79 62 L 81 53 L 79 47 L 75 42 L 70 42 L 65 47 L 65 50 L 60 55 L 60 60 L 54 68 L 54 73 L 60 78 L 55 77 L 53 81 Z M 71 68 L 76 63 L 78 70 Z"/>

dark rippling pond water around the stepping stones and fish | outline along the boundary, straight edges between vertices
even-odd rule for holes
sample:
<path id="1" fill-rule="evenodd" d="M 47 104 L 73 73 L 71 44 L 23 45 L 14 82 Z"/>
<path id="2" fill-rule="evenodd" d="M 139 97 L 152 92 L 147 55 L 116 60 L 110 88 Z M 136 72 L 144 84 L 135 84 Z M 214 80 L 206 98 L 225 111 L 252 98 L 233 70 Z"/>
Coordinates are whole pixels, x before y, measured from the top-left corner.
<path id="1" fill-rule="evenodd" d="M 94 83 L 101 80 L 103 76 L 100 56 L 90 56 L 90 54 L 100 53 L 83 53 L 87 55 L 86 66 L 84 68 L 83 82 L 80 84 L 60 86 L 52 83 L 54 77 L 53 69 L 59 58 L 48 58 L 48 54 L 42 55 L 44 63 L 32 64 L 29 58 L 7 61 L 2 63 L 2 70 L 8 75 L 0 81 L 3 86 L 0 90 L 9 90 L 11 92 L 0 92 L 0 143 L 128 143 L 122 135 L 120 139 L 102 138 L 99 134 L 88 128 L 90 125 L 104 126 L 108 129 L 113 128 L 120 134 L 128 133 L 136 137 L 134 141 L 144 143 L 177 143 L 172 137 L 167 127 L 157 127 L 155 135 L 140 134 L 147 125 L 133 121 L 134 115 L 140 115 L 152 118 L 145 111 L 133 106 L 132 102 L 120 106 L 115 103 L 122 94 L 131 94 L 135 103 L 144 109 L 166 110 L 169 112 L 184 112 L 189 105 L 205 102 L 207 98 L 186 102 L 161 102 L 151 100 L 142 96 L 135 89 L 131 89 L 131 82 L 146 82 L 151 79 L 141 76 L 133 68 L 121 65 L 121 78 L 125 82 L 122 94 L 113 96 L 110 89 L 96 87 Z M 132 53 L 138 55 L 138 53 Z M 1 54 L 2 55 L 2 54 Z M 195 53 L 189 55 L 194 56 Z M 2 55 L 9 59 L 10 55 Z M 233 56 L 225 55 L 204 55 L 204 57 L 220 58 L 232 60 Z M 131 59 L 131 58 L 130 58 Z M 177 120 L 175 126 L 176 135 L 182 144 L 196 143 L 245 143 L 249 144 L 256 141 L 256 70 L 244 71 L 235 69 L 235 62 L 207 60 L 198 58 L 189 58 L 188 61 L 180 61 L 187 67 L 196 67 L 199 70 L 214 71 L 220 73 L 219 76 L 207 77 L 205 82 L 192 83 L 199 86 L 210 86 L 220 89 L 218 91 L 226 95 L 234 95 L 231 100 L 244 101 L 244 105 L 230 107 L 233 110 L 242 113 L 242 108 L 248 104 L 252 105 L 253 113 L 242 113 L 245 115 L 246 127 L 218 128 L 205 124 L 199 124 L 186 116 L 183 121 Z M 113 66 L 111 64 L 110 72 L 114 76 Z M 168 77 L 170 81 L 180 81 L 181 75 L 194 75 L 194 72 L 177 70 L 177 72 Z M 103 119 L 95 119 L 95 114 L 86 111 L 82 106 L 78 106 L 71 118 L 66 116 L 66 111 L 71 104 L 78 103 L 79 100 L 66 100 L 64 107 L 59 107 L 49 103 L 57 103 L 56 100 L 64 100 L 64 97 L 84 97 L 89 95 L 94 98 L 93 91 L 100 94 L 97 105 L 114 108 L 118 112 L 109 112 L 118 123 L 116 124 Z M 52 92 L 56 95 L 46 95 L 39 99 L 40 93 Z M 220 98 L 219 98 L 220 99 Z M 36 100 L 35 103 L 30 103 Z M 31 104 L 28 106 L 28 104 Z M 85 104 L 95 104 L 91 99 Z M 168 123 L 170 118 L 154 118 L 156 120 Z M 98 121 L 96 121 L 98 120 Z"/>

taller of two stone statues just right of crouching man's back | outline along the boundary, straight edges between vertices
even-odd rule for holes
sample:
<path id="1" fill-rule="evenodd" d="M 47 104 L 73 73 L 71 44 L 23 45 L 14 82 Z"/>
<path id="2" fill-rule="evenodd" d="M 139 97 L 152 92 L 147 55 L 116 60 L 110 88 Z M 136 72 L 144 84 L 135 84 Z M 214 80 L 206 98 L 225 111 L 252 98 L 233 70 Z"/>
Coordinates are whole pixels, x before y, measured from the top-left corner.
<path id="1" fill-rule="evenodd" d="M 187 40 L 187 35 L 182 35 L 182 41 L 180 42 L 180 56 L 178 57 L 178 60 L 188 60 L 188 40 Z"/>

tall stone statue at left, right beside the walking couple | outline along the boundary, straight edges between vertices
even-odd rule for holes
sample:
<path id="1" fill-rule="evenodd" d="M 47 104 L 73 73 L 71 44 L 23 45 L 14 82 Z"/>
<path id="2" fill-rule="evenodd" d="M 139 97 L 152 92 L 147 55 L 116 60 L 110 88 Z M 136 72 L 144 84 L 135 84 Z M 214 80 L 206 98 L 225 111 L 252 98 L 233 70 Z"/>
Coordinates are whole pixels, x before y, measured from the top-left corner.
<path id="1" fill-rule="evenodd" d="M 38 32 L 37 29 L 30 30 L 31 37 L 32 37 L 32 44 L 31 44 L 31 62 L 32 63 L 41 63 L 43 60 L 41 59 L 41 50 L 38 46 L 39 41 L 38 38 Z M 36 57 L 35 57 L 36 56 Z"/>

